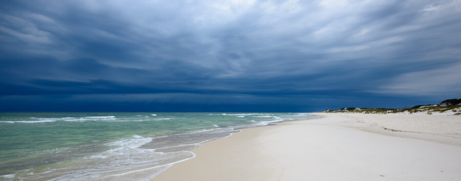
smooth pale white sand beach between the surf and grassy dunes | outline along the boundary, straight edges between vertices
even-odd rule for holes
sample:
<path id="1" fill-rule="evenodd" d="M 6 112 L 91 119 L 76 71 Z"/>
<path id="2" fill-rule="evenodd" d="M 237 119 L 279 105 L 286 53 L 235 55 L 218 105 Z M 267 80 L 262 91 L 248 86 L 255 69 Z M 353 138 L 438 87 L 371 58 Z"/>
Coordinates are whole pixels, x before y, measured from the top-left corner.
<path id="1" fill-rule="evenodd" d="M 316 113 L 203 143 L 154 180 L 460 180 L 461 117 Z"/>

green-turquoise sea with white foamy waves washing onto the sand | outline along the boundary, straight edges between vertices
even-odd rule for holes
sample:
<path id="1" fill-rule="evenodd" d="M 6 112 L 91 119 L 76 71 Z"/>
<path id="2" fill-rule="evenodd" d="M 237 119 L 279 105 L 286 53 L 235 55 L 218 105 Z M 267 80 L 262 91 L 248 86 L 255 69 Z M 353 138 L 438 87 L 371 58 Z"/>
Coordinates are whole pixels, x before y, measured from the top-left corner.
<path id="1" fill-rule="evenodd" d="M 0 112 L 0 180 L 150 180 L 200 143 L 305 113 Z"/>

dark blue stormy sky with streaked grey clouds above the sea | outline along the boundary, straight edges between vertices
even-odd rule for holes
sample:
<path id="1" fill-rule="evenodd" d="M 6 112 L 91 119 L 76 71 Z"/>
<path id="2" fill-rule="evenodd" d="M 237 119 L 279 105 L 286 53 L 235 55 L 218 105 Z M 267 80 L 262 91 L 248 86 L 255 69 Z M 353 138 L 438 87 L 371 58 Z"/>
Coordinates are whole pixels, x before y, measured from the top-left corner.
<path id="1" fill-rule="evenodd" d="M 310 112 L 461 98 L 461 1 L 2 1 L 0 111 Z"/>

